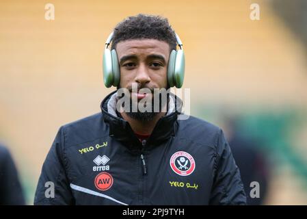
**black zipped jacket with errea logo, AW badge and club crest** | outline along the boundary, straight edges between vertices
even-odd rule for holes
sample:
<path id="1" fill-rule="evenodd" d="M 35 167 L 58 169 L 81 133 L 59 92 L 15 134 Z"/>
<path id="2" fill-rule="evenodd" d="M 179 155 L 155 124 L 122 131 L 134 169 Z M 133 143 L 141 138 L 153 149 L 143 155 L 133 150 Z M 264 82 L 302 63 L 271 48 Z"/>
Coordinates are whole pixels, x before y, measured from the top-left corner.
<path id="1" fill-rule="evenodd" d="M 245 204 L 221 129 L 193 116 L 177 120 L 176 111 L 163 116 L 141 143 L 129 123 L 107 111 L 111 94 L 101 103 L 102 114 L 59 129 L 34 204 Z M 55 185 L 54 198 L 45 196 L 47 181 Z"/>

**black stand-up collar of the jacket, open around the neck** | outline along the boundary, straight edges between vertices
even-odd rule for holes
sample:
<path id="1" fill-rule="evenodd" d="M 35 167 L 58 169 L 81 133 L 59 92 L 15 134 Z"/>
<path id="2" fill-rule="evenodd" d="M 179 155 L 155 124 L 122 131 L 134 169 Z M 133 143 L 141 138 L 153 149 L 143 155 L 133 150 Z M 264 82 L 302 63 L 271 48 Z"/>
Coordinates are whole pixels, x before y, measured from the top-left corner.
<path id="1" fill-rule="evenodd" d="M 111 94 L 108 94 L 101 102 L 101 112 L 103 113 L 103 118 L 105 122 L 109 124 L 109 136 L 119 140 L 120 142 L 126 142 L 125 145 L 131 150 L 139 150 L 137 147 L 135 147 L 135 145 L 141 146 L 142 144 L 133 133 L 129 123 L 126 120 L 108 112 L 108 103 L 111 96 L 115 93 L 116 91 L 111 92 Z M 174 94 L 170 95 L 172 95 L 172 98 L 176 101 L 177 105 L 181 106 L 181 99 Z M 174 112 L 168 113 L 166 116 L 163 116 L 158 120 L 157 125 L 148 139 L 148 147 L 157 146 L 161 142 L 168 140 L 168 138 L 171 136 L 175 136 L 178 129 L 177 116 L 180 114 L 180 112 L 181 107 L 179 109 L 176 109 L 175 107 Z"/>

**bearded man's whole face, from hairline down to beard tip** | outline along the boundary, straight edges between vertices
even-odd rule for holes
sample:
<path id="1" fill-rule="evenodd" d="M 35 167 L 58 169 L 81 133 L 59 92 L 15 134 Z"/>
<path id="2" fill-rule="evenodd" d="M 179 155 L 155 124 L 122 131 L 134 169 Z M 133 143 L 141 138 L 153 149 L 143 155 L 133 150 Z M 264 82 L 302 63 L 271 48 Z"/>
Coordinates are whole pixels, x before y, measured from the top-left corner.
<path id="1" fill-rule="evenodd" d="M 169 44 L 153 39 L 125 40 L 118 42 L 116 52 L 120 64 L 120 88 L 128 89 L 132 95 L 126 113 L 136 120 L 152 120 L 157 115 L 153 112 L 154 89 L 168 86 Z M 142 88 L 147 88 L 146 93 Z M 140 112 L 139 109 L 131 112 L 133 105 L 137 107 L 138 101 L 143 99 L 146 100 L 143 106 L 148 106 L 150 112 Z M 164 106 L 161 104 L 159 107 L 162 109 Z"/>

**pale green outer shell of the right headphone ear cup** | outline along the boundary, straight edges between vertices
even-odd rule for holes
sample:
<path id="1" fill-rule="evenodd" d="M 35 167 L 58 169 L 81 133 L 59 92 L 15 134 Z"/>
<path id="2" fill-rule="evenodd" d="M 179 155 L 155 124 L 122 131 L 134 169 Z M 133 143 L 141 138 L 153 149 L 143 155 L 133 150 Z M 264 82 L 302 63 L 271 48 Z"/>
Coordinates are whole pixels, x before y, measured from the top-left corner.
<path id="1" fill-rule="evenodd" d="M 174 86 L 181 88 L 185 77 L 185 53 L 183 50 L 176 51 L 176 59 L 174 64 Z"/>

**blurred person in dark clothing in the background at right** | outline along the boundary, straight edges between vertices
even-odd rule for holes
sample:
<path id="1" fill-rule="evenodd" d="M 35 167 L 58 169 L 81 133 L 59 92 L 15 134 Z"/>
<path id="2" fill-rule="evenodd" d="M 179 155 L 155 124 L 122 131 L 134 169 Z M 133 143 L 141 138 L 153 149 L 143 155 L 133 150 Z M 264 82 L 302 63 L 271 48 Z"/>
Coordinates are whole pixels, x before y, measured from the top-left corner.
<path id="1" fill-rule="evenodd" d="M 244 136 L 244 127 L 239 123 L 237 116 L 226 116 L 224 119 L 224 131 L 228 139 L 232 155 L 240 169 L 241 179 L 245 194 L 250 194 L 254 186 L 252 182 L 257 182 L 260 186 L 259 196 L 247 196 L 248 205 L 264 205 L 270 182 L 270 166 L 267 157 L 261 150 L 261 140 Z M 252 192 L 254 194 L 254 192 Z"/>

